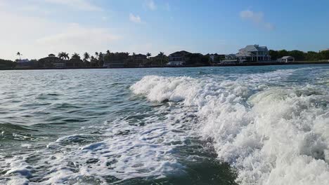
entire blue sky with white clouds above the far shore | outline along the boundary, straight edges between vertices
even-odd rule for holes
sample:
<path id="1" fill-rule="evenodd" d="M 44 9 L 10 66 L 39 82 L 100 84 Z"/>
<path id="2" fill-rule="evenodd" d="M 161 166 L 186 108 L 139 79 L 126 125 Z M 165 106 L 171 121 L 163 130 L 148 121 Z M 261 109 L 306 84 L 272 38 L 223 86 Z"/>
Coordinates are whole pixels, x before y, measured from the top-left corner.
<path id="1" fill-rule="evenodd" d="M 329 48 L 328 0 L 0 0 L 0 58 Z"/>

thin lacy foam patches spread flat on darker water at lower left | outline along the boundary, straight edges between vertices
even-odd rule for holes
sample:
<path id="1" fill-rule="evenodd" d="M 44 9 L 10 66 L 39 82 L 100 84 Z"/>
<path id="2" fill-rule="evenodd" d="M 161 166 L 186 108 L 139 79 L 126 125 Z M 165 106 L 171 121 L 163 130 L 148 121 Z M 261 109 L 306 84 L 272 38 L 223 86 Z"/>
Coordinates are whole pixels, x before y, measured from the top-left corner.
<path id="1" fill-rule="evenodd" d="M 29 181 L 31 171 L 34 171 L 33 176 L 40 176 L 36 178 L 41 184 L 84 184 L 84 179 L 89 179 L 91 184 L 107 184 L 107 177 L 124 180 L 179 174 L 184 167 L 174 157 L 174 149 L 182 146 L 190 134 L 186 132 L 188 125 L 176 123 L 191 121 L 193 117 L 184 109 L 164 108 L 155 113 L 167 115 L 166 122 L 159 120 L 156 114 L 140 119 L 143 126 L 117 119 L 103 124 L 103 135 L 60 137 L 44 150 L 0 161 L 0 167 L 6 170 L 13 183 L 27 184 L 33 184 Z M 75 144 L 90 137 L 105 139 Z M 29 164 L 31 156 L 37 157 L 33 165 Z"/>

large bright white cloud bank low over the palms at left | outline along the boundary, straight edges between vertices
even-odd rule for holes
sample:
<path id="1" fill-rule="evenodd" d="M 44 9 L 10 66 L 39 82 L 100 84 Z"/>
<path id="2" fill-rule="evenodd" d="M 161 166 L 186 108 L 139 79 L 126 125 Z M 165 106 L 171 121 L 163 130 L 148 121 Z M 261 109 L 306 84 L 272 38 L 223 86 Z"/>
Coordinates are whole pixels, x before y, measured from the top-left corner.
<path id="1" fill-rule="evenodd" d="M 53 22 L 46 17 L 29 16 L 0 7 L 0 58 L 15 60 L 20 51 L 25 58 L 40 58 L 65 51 L 102 51 L 117 45 L 122 36 L 105 27 Z"/>

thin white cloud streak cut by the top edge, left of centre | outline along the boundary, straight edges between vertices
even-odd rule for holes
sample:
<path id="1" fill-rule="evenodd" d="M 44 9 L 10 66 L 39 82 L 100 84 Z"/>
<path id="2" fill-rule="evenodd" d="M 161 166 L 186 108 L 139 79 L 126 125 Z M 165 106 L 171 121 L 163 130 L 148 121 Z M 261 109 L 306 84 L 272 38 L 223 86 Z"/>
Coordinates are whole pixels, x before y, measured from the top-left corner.
<path id="1" fill-rule="evenodd" d="M 70 6 L 70 8 L 77 8 L 81 11 L 102 11 L 102 8 L 91 4 L 88 0 L 45 0 L 52 4 L 60 4 L 63 6 Z"/>

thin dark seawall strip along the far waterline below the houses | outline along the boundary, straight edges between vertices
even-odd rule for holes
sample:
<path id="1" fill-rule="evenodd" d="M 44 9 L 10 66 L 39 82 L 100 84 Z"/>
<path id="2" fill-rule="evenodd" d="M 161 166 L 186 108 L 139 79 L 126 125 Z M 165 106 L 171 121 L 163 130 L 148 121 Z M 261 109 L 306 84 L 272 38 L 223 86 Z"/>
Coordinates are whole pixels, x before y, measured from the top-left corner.
<path id="1" fill-rule="evenodd" d="M 209 65 L 189 65 L 189 66 L 153 66 L 153 67 L 71 67 L 71 68 L 7 68 L 0 69 L 0 71 L 7 70 L 49 70 L 49 69 L 140 69 L 140 68 L 176 68 L 176 67 L 245 67 L 245 66 L 269 66 L 269 65 L 300 65 L 300 64 L 329 64 L 329 62 L 320 62 L 320 61 L 300 61 L 300 62 L 244 62 L 244 63 L 235 63 L 235 64 L 209 64 Z"/>

